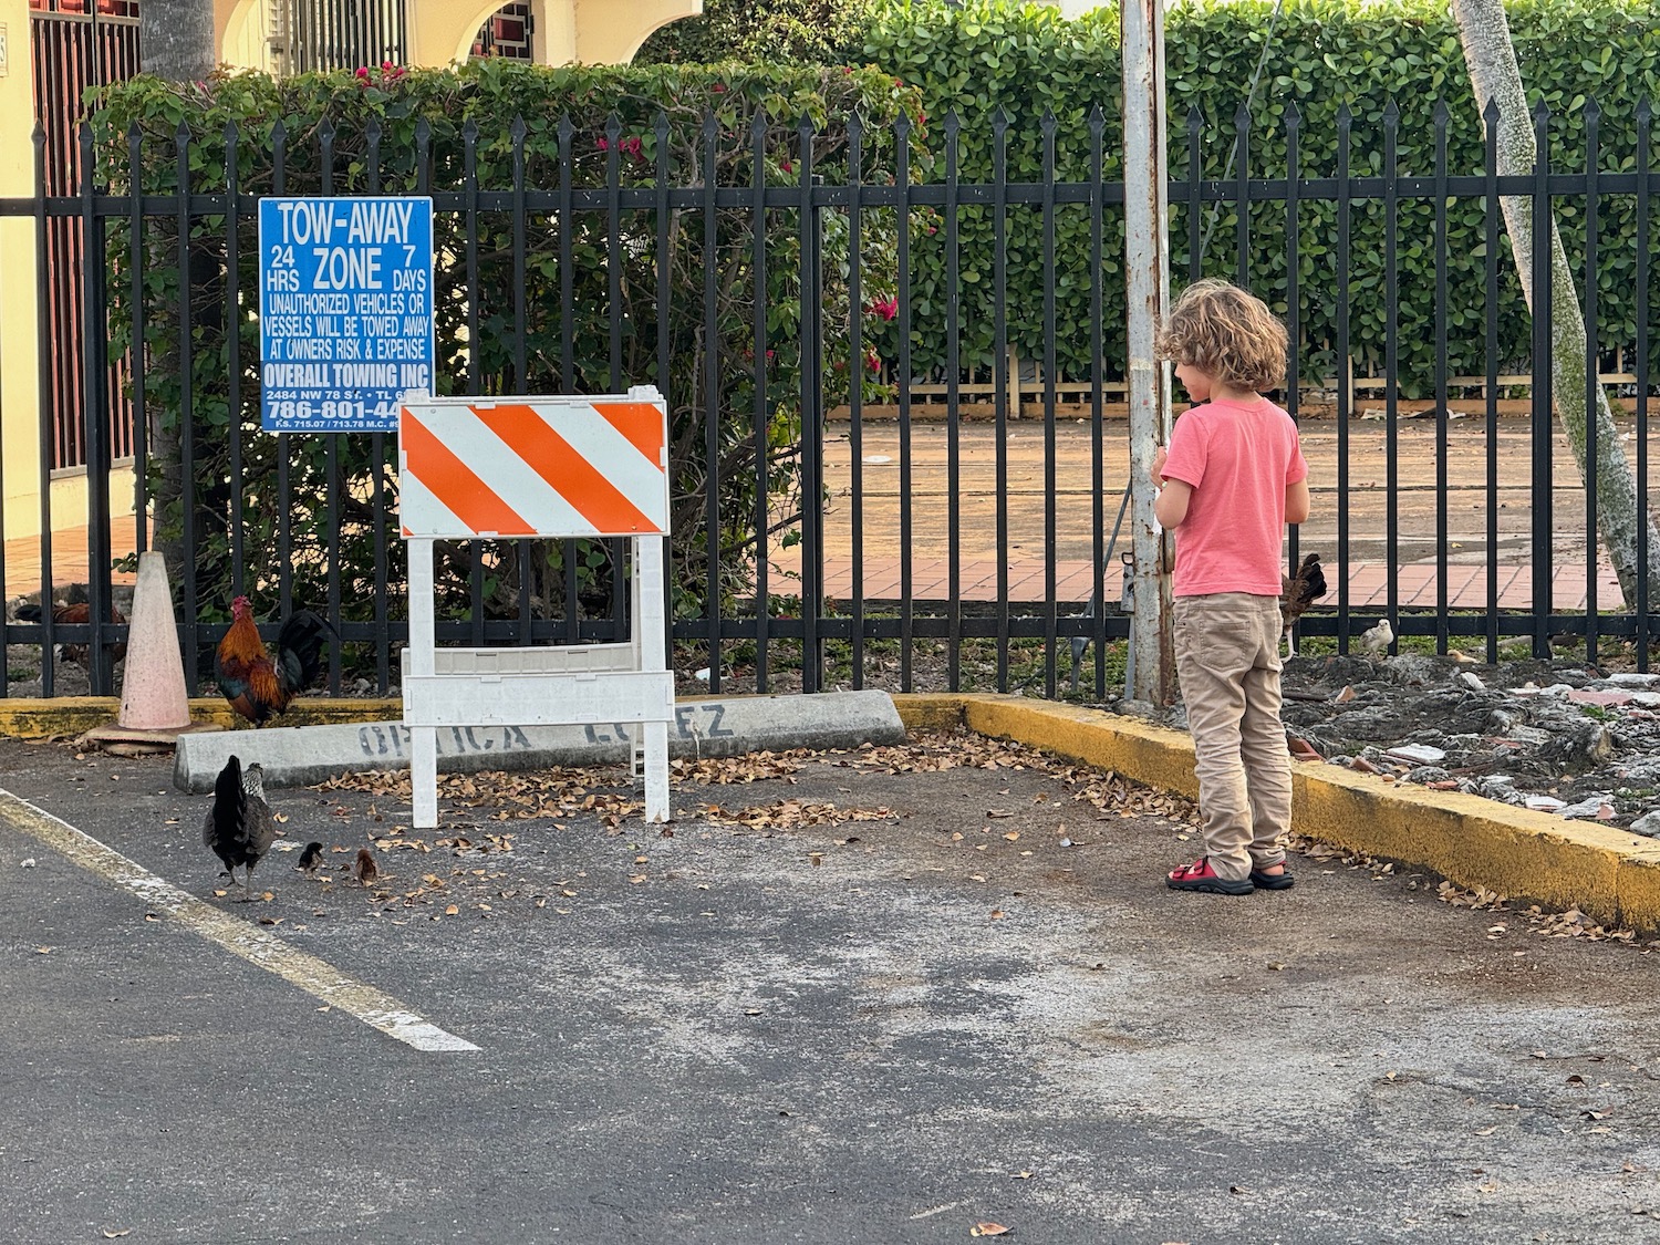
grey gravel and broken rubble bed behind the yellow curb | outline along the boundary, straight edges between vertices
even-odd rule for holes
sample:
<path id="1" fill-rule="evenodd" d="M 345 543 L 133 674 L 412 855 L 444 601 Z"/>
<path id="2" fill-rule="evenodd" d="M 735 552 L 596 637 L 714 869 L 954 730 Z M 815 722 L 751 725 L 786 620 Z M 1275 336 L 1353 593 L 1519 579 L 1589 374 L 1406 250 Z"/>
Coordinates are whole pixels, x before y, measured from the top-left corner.
<path id="1" fill-rule="evenodd" d="M 1660 837 L 1660 674 L 1584 661 L 1290 657 L 1293 752 Z M 1177 706 L 1164 715 L 1185 729 Z"/>

